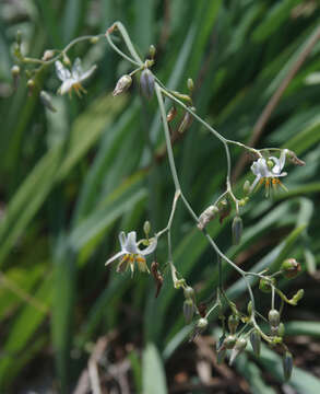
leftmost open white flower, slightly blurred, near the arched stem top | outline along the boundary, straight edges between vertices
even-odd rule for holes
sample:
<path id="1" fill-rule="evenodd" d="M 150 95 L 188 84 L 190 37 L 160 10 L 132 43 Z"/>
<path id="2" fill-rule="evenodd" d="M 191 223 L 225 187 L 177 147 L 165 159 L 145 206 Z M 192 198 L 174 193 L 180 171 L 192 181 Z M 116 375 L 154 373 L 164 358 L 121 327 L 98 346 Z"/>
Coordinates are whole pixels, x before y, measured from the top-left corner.
<path id="1" fill-rule="evenodd" d="M 71 94 L 72 89 L 74 89 L 75 93 L 81 97 L 81 92 L 86 93 L 86 90 L 82 86 L 81 82 L 86 80 L 92 76 L 95 71 L 96 66 L 92 66 L 92 68 L 85 72 L 82 71 L 81 60 L 76 58 L 72 66 L 71 71 L 64 67 L 61 61 L 56 61 L 56 71 L 58 78 L 62 81 L 61 86 L 58 90 L 58 93 L 64 94 L 69 92 Z"/>

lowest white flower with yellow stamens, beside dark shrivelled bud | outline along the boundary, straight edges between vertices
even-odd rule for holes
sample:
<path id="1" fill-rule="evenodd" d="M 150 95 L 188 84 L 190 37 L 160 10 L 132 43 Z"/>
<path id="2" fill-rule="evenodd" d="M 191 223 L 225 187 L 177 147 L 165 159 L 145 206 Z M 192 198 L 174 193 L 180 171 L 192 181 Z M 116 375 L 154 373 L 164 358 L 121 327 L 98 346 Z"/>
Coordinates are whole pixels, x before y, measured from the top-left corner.
<path id="1" fill-rule="evenodd" d="M 157 239 L 150 239 L 150 244 L 144 250 L 139 248 L 139 243 L 141 243 L 141 241 L 137 242 L 135 231 L 131 231 L 127 236 L 126 233 L 121 231 L 119 234 L 119 241 L 121 251 L 110 257 L 106 265 L 109 265 L 117 258 L 120 258 L 117 267 L 118 273 L 126 270 L 130 266 L 131 273 L 133 274 L 135 262 L 138 264 L 139 270 L 150 273 L 144 256 L 154 252 L 157 245 Z"/>

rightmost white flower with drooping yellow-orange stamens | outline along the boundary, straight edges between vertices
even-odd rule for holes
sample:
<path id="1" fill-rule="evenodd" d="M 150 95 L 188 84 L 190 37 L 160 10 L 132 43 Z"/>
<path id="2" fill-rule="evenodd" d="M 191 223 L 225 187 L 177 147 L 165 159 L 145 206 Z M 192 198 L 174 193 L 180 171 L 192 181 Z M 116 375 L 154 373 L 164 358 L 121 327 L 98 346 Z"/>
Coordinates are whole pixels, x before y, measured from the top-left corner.
<path id="1" fill-rule="evenodd" d="M 285 186 L 280 182 L 280 177 L 286 176 L 286 172 L 282 172 L 285 165 L 285 159 L 287 154 L 287 149 L 284 149 L 281 152 L 280 159 L 270 157 L 268 161 L 264 158 L 260 158 L 253 162 L 251 165 L 251 171 L 256 175 L 256 179 L 253 181 L 250 193 L 254 189 L 257 184 L 263 184 L 265 182 L 266 195 L 269 195 L 269 188 L 272 185 L 276 188 L 277 185 L 281 185 L 283 188 Z M 270 167 L 268 162 L 273 162 L 274 165 Z"/>

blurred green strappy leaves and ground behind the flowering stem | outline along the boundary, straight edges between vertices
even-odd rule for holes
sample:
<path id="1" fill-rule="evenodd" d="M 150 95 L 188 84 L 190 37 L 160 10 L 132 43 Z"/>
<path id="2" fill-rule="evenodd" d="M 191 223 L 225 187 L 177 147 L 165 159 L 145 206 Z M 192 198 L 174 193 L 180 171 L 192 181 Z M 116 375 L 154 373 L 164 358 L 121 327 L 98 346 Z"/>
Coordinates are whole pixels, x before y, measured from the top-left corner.
<path id="1" fill-rule="evenodd" d="M 319 393 L 319 2 L 2 0 L 0 15 L 0 393 L 99 393 L 91 389 L 96 372 L 103 393 Z M 296 364 L 286 384 L 281 358 L 266 348 L 259 359 L 248 349 L 235 368 L 217 367 L 217 316 L 188 344 L 165 242 L 157 250 L 165 277 L 157 299 L 150 276 L 104 266 L 119 247 L 119 230 L 142 236 L 146 219 L 154 231 L 165 227 L 174 196 L 156 101 L 146 103 L 137 81 L 128 94 L 111 96 L 130 65 L 105 39 L 81 43 L 71 60 L 98 66 L 82 100 L 55 95 L 54 68 L 32 95 L 24 76 L 12 88 L 17 30 L 24 54 L 40 58 L 116 20 L 142 56 L 156 46 L 153 71 L 168 88 L 187 92 L 193 78 L 198 114 L 225 137 L 285 147 L 307 163 L 287 167 L 288 193 L 265 199 L 260 192 L 245 207 L 241 245 L 230 246 L 229 218 L 209 227 L 246 270 L 273 270 L 285 257 L 303 265 L 297 279 L 281 282 L 288 294 L 306 289 L 284 314 Z M 38 89 L 55 95 L 57 113 L 42 105 Z M 232 153 L 241 194 L 250 162 L 239 149 Z M 175 155 L 200 213 L 224 188 L 222 146 L 193 121 L 175 141 Z M 215 259 L 181 206 L 173 244 L 177 268 L 205 300 L 217 285 Z M 246 288 L 227 266 L 224 280 L 244 310 Z M 265 313 L 269 296 L 254 294 Z"/>

